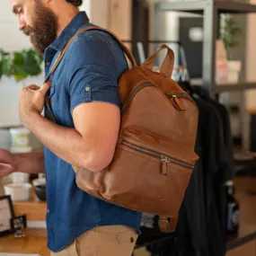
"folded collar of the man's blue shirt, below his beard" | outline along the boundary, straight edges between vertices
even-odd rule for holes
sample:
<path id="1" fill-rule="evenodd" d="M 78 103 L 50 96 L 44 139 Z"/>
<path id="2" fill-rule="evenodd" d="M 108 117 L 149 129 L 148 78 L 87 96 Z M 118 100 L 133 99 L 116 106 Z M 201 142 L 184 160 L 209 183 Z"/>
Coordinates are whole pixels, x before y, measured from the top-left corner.
<path id="1" fill-rule="evenodd" d="M 85 23 L 89 22 L 88 16 L 85 12 L 79 12 L 75 15 L 75 18 L 66 26 L 64 31 L 54 40 L 49 48 L 61 51 L 66 46 L 68 40 L 74 36 L 75 32 L 78 31 Z"/>

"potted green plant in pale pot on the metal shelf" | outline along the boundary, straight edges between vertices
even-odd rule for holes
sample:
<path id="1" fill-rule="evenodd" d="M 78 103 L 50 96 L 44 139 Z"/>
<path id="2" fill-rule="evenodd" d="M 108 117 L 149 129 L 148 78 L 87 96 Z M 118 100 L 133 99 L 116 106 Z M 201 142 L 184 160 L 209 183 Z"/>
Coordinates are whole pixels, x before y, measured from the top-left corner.
<path id="1" fill-rule="evenodd" d="M 223 40 L 227 57 L 227 81 L 237 83 L 241 71 L 241 60 L 234 60 L 234 48 L 239 46 L 242 29 L 230 14 L 220 15 L 220 38 Z"/>

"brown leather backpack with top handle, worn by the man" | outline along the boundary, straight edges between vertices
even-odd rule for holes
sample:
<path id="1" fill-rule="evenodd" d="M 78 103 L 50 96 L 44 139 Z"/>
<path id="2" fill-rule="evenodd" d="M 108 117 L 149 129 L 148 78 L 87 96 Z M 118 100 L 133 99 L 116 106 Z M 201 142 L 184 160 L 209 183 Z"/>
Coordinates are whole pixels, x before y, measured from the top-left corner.
<path id="1" fill-rule="evenodd" d="M 57 57 L 50 74 L 72 40 L 89 30 L 102 29 L 88 27 L 76 32 Z M 194 152 L 198 108 L 190 95 L 171 79 L 172 49 L 163 45 L 142 66 L 137 66 L 131 52 L 118 41 L 133 66 L 119 79 L 121 125 L 114 158 L 99 173 L 73 166 L 76 184 L 111 204 L 160 215 L 160 230 L 172 232 L 198 160 Z M 154 72 L 154 60 L 162 49 L 167 49 L 163 66 L 160 72 Z M 50 110 L 49 99 L 46 102 Z"/>

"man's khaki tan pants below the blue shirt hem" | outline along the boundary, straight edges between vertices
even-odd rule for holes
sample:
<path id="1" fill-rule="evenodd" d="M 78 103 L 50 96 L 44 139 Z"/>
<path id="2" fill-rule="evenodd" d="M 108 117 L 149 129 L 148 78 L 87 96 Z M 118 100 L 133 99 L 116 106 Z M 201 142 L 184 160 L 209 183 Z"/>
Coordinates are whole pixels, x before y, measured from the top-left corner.
<path id="1" fill-rule="evenodd" d="M 51 256 L 131 256 L 137 232 L 124 225 L 96 227 L 71 243 L 62 252 Z"/>

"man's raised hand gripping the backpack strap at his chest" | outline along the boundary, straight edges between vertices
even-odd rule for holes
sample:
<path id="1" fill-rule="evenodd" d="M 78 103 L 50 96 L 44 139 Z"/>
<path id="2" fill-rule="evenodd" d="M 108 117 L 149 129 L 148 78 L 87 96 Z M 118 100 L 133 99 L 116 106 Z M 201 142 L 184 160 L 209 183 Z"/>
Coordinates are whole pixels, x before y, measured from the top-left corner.
<path id="1" fill-rule="evenodd" d="M 44 99 L 46 93 L 49 91 L 50 84 L 48 82 L 41 87 L 31 84 L 22 88 L 22 92 L 19 95 L 19 113 L 24 126 L 26 126 L 28 119 L 30 119 L 31 113 L 40 115 L 44 108 Z"/>

